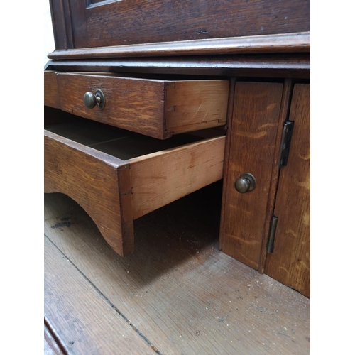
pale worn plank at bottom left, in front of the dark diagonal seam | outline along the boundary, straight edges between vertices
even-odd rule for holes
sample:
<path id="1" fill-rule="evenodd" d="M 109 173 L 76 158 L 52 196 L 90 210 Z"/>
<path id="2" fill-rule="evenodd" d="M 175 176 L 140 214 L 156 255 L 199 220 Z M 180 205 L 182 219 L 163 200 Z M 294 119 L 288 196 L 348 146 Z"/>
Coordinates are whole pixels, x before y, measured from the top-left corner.
<path id="1" fill-rule="evenodd" d="M 46 237 L 44 251 L 45 319 L 66 354 L 155 354 Z"/>

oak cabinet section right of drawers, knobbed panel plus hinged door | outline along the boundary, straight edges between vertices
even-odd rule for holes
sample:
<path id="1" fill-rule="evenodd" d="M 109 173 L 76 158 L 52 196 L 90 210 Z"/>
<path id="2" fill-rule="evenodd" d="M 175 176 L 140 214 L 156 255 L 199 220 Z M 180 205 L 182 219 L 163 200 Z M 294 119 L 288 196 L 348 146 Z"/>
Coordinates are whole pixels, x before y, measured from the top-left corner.
<path id="1" fill-rule="evenodd" d="M 310 297 L 310 84 L 236 82 L 228 135 L 222 251 Z M 256 187 L 240 193 L 246 172 Z"/>

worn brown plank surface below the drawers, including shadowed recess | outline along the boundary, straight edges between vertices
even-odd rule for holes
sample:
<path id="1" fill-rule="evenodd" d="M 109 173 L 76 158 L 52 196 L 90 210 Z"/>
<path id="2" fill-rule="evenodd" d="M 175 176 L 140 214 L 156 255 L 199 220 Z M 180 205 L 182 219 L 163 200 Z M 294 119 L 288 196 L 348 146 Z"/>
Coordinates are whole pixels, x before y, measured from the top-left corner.
<path id="1" fill-rule="evenodd" d="M 218 250 L 217 182 L 134 222 L 122 258 L 45 195 L 45 354 L 310 354 L 310 300 Z"/>

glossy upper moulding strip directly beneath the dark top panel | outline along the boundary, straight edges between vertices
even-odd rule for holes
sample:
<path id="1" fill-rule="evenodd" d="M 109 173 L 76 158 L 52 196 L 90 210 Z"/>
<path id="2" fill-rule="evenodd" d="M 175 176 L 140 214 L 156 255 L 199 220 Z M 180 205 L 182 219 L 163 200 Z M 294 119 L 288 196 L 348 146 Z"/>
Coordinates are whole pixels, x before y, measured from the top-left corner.
<path id="1" fill-rule="evenodd" d="M 310 32 L 55 50 L 50 59 L 310 52 Z"/>

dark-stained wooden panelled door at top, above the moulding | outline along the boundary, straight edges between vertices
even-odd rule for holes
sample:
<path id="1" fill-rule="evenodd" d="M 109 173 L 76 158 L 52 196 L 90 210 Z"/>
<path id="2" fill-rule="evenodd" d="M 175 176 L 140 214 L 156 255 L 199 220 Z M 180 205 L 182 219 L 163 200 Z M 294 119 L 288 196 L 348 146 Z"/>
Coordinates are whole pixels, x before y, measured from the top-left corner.
<path id="1" fill-rule="evenodd" d="M 310 31 L 309 0 L 50 0 L 56 49 Z"/>

